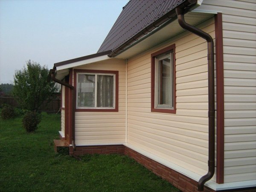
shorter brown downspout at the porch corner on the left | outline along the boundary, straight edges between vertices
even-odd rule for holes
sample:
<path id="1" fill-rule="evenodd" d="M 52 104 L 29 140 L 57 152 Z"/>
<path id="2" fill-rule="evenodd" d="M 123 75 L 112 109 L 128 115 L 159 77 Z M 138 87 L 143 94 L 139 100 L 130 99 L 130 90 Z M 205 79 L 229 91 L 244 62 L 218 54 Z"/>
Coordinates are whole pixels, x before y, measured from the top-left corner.
<path id="1" fill-rule="evenodd" d="M 55 71 L 56 71 L 55 69 L 53 69 L 53 70 L 51 69 L 50 70 L 52 81 L 55 81 L 56 83 L 64 85 L 65 87 L 69 87 L 71 89 L 71 91 L 72 91 L 72 105 L 73 106 L 72 106 L 71 109 L 72 109 L 72 114 L 73 114 L 73 122 L 72 122 L 72 125 L 73 125 L 72 131 L 73 131 L 73 133 L 72 133 L 71 140 L 72 140 L 73 149 L 76 150 L 76 142 L 75 142 L 75 106 L 76 106 L 76 103 L 75 103 L 75 87 L 73 85 L 71 85 L 71 84 L 68 84 L 68 83 L 65 83 L 65 82 L 63 82 L 61 80 L 56 79 L 55 78 Z"/>

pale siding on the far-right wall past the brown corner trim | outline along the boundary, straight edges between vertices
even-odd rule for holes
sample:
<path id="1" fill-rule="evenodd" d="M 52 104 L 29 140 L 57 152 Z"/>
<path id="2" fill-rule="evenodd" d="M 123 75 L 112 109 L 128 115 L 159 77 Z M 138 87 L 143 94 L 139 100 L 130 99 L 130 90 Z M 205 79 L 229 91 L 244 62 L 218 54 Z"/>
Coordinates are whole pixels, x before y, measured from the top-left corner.
<path id="1" fill-rule="evenodd" d="M 204 0 L 222 12 L 224 182 L 256 179 L 256 1 Z"/>

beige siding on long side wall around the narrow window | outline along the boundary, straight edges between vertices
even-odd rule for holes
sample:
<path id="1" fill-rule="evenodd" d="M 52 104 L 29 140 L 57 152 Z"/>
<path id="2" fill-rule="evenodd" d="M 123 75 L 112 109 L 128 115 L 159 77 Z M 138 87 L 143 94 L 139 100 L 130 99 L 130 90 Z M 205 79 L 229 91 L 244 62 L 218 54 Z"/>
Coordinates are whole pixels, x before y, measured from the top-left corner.
<path id="1" fill-rule="evenodd" d="M 214 19 L 200 25 L 215 37 Z M 151 53 L 175 44 L 176 114 L 151 112 Z M 127 142 L 199 175 L 207 173 L 207 43 L 187 32 L 128 59 Z"/>

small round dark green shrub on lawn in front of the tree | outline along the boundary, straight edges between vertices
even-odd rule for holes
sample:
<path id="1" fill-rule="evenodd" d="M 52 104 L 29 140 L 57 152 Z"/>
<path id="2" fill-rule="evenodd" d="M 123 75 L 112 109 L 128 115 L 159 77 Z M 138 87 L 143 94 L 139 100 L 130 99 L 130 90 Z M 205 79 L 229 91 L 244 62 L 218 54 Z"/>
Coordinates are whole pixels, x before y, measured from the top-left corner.
<path id="1" fill-rule="evenodd" d="M 34 132 L 38 128 L 38 124 L 41 121 L 41 115 L 35 111 L 28 111 L 24 115 L 22 122 L 26 132 Z"/>

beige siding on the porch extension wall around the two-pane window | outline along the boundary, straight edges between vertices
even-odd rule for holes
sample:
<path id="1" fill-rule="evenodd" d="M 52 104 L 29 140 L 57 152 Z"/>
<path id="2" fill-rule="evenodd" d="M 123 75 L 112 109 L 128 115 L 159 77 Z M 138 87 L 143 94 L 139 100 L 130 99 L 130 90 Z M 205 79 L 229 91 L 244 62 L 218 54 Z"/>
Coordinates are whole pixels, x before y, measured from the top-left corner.
<path id="1" fill-rule="evenodd" d="M 76 112 L 76 145 L 125 142 L 125 61 L 111 59 L 77 69 L 119 71 L 118 112 Z"/>

